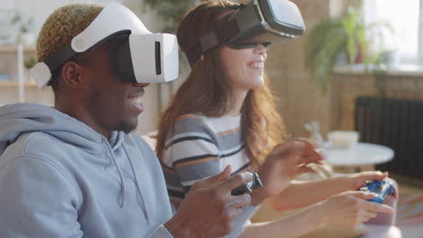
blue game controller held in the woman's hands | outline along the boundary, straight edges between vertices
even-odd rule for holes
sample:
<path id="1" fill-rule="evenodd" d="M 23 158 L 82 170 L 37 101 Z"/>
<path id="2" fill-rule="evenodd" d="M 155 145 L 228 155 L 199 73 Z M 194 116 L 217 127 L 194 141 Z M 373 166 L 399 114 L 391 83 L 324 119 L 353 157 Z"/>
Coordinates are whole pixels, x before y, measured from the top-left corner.
<path id="1" fill-rule="evenodd" d="M 369 199 L 371 202 L 383 203 L 387 195 L 393 195 L 394 187 L 392 183 L 387 180 L 368 180 L 366 184 L 359 189 L 362 192 L 374 193 L 376 197 Z"/>

